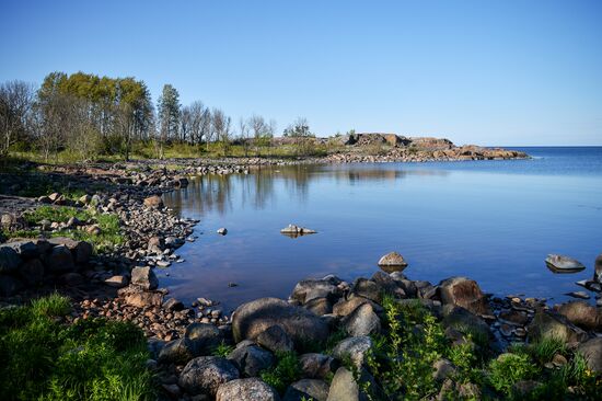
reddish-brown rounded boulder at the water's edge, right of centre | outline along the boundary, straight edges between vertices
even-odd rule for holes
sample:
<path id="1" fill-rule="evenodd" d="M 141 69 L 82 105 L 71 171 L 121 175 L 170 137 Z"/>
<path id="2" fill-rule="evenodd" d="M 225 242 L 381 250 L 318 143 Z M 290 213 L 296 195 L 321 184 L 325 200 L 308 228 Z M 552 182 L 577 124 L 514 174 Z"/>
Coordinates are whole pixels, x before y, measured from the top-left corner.
<path id="1" fill-rule="evenodd" d="M 451 277 L 439 284 L 441 302 L 462 307 L 472 313 L 491 314 L 485 295 L 474 279 Z"/>

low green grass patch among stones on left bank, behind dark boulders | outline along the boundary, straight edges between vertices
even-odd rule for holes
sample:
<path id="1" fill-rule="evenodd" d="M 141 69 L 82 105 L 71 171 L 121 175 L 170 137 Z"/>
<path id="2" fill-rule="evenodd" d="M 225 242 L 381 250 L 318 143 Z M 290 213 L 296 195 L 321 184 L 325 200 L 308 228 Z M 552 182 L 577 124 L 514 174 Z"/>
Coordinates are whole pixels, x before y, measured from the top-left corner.
<path id="1" fill-rule="evenodd" d="M 76 217 L 80 221 L 89 221 L 97 224 L 101 233 L 93 234 L 85 230 L 79 229 L 62 229 L 53 231 L 51 237 L 68 237 L 78 241 L 90 242 L 96 252 L 104 252 L 113 249 L 115 245 L 124 243 L 124 234 L 120 230 L 119 217 L 114 214 L 100 214 L 95 210 L 79 209 L 68 206 L 40 206 L 32 211 L 24 214 L 24 219 L 30 226 L 36 226 L 42 220 L 67 222 L 71 217 Z M 43 232 L 39 230 L 20 230 L 20 231 L 3 231 L 7 238 L 37 238 Z"/>

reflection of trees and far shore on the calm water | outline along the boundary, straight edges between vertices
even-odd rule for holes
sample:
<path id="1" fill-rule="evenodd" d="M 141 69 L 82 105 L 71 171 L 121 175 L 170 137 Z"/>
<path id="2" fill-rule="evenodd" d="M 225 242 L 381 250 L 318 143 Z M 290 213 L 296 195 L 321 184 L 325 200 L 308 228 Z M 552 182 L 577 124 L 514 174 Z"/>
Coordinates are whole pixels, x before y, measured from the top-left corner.
<path id="1" fill-rule="evenodd" d="M 356 185 L 363 181 L 395 182 L 410 175 L 444 176 L 444 170 L 400 170 L 372 165 L 320 165 L 300 164 L 263 168 L 251 174 L 209 174 L 192 180 L 182 191 L 174 191 L 165 197 L 176 209 L 183 206 L 199 214 L 217 211 L 224 215 L 233 208 L 234 197 L 240 195 L 241 207 L 251 204 L 254 209 L 265 209 L 276 202 L 276 182 L 281 181 L 286 191 L 300 202 L 305 202 L 310 184 L 316 180 L 329 179 L 337 184 Z"/>

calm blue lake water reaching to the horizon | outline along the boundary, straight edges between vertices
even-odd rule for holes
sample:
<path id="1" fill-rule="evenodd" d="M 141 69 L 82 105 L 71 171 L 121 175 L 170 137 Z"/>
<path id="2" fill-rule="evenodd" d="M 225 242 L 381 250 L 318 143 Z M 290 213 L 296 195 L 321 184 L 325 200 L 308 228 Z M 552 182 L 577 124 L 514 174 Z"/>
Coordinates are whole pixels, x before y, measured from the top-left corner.
<path id="1" fill-rule="evenodd" d="M 287 297 L 305 277 L 369 277 L 381 255 L 397 251 L 413 279 L 463 275 L 496 295 L 564 300 L 582 289 L 575 282 L 591 278 L 602 253 L 602 147 L 520 150 L 533 159 L 279 167 L 198 179 L 165 195 L 201 222 L 197 241 L 178 250 L 186 261 L 158 271 L 161 284 L 182 300 L 208 297 L 229 310 Z M 290 222 L 319 233 L 280 234 Z M 227 236 L 216 233 L 220 227 Z M 554 274 L 547 253 L 588 268 Z"/>

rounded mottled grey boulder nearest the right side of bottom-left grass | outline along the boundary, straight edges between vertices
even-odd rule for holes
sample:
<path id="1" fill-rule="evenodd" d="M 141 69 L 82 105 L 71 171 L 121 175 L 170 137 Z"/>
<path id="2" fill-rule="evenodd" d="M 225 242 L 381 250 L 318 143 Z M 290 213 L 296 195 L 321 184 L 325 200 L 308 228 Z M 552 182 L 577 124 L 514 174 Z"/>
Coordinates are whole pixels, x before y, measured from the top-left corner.
<path id="1" fill-rule="evenodd" d="M 199 356 L 186 364 L 178 385 L 189 394 L 216 396 L 221 385 L 239 377 L 239 370 L 230 360 L 218 356 Z"/>

